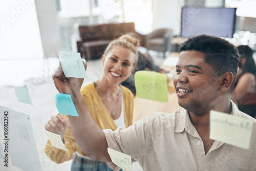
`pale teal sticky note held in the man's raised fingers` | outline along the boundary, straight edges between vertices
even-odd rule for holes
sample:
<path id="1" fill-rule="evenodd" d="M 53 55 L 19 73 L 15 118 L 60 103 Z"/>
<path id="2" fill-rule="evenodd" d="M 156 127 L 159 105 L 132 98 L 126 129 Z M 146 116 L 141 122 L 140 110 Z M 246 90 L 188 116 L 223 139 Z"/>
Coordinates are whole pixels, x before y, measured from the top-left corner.
<path id="1" fill-rule="evenodd" d="M 80 53 L 61 51 L 59 61 L 66 77 L 88 78 Z"/>

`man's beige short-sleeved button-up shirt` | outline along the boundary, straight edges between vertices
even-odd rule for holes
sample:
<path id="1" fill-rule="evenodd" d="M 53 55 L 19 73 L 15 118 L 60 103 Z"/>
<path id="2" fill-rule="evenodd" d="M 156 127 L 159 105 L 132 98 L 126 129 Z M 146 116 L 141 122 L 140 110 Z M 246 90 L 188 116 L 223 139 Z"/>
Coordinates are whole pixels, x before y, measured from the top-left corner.
<path id="1" fill-rule="evenodd" d="M 231 103 L 231 115 L 253 119 Z M 132 156 L 144 170 L 256 170 L 253 120 L 249 150 L 215 141 L 206 155 L 203 141 L 183 108 L 172 114 L 156 112 L 127 129 L 104 133 L 110 148 Z M 108 164 L 114 170 L 120 169 L 112 162 Z"/>

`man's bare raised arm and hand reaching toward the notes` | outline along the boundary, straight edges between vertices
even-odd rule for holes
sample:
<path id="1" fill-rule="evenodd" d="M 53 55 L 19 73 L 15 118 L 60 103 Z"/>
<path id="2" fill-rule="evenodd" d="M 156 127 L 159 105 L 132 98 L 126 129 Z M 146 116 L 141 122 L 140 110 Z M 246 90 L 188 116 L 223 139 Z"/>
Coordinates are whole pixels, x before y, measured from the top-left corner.
<path id="1" fill-rule="evenodd" d="M 84 68 L 87 68 L 83 60 Z M 80 89 L 82 78 L 65 77 L 61 66 L 54 72 L 53 80 L 59 93 L 69 94 L 75 104 L 79 117 L 68 116 L 73 136 L 79 148 L 93 160 L 111 161 L 108 144 L 103 131 L 90 116 Z"/>

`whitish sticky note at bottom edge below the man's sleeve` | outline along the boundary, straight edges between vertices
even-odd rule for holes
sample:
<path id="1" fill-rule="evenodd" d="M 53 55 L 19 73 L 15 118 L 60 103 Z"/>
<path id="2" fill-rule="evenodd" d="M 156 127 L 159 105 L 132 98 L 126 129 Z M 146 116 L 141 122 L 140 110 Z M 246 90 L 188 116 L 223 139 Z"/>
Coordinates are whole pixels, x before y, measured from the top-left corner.
<path id="1" fill-rule="evenodd" d="M 114 149 L 108 148 L 108 153 L 113 163 L 125 171 L 132 171 L 132 157 Z"/>

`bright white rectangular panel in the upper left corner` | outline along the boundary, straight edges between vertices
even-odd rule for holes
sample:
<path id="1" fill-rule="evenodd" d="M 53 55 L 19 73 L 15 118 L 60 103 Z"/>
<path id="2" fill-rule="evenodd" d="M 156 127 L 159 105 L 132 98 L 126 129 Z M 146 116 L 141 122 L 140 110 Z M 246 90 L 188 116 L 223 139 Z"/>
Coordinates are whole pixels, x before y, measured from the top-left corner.
<path id="1" fill-rule="evenodd" d="M 42 58 L 34 0 L 0 0 L 0 59 Z"/>

